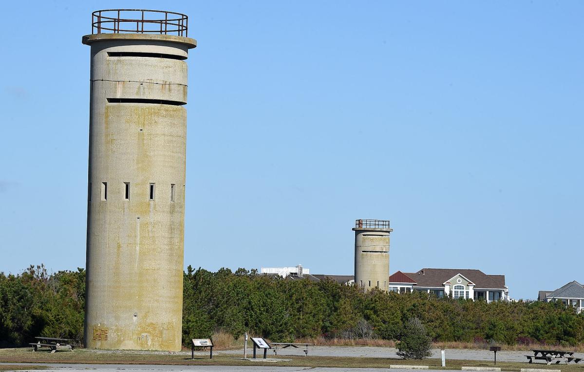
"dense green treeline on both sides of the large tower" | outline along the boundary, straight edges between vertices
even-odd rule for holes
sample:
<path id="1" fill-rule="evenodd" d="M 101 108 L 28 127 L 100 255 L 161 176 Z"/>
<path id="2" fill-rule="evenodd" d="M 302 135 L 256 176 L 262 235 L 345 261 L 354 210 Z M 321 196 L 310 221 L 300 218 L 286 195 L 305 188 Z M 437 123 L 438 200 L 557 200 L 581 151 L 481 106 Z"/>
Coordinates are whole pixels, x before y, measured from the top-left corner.
<path id="1" fill-rule="evenodd" d="M 81 343 L 84 306 L 84 269 L 48 274 L 41 265 L 18 275 L 0 273 L 0 346 L 23 346 L 39 335 Z M 185 273 L 185 345 L 218 330 L 272 341 L 323 335 L 395 339 L 411 318 L 419 318 L 435 341 L 584 342 L 584 314 L 559 304 L 366 293 L 333 281 L 274 279 L 245 269 L 212 273 L 189 267 Z"/>

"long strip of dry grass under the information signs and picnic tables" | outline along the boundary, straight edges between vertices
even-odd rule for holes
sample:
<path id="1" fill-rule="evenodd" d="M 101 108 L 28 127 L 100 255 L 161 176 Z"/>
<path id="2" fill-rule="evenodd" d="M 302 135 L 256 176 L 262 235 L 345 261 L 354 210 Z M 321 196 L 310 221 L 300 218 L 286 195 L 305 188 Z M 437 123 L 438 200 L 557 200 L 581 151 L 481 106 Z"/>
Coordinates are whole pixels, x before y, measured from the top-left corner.
<path id="1" fill-rule="evenodd" d="M 273 356 L 270 356 L 272 358 Z M 280 356 L 279 356 L 280 357 Z M 88 364 L 168 364 L 168 365 L 198 365 L 198 366 L 254 366 L 266 363 L 235 359 L 229 354 L 214 354 L 208 359 L 208 354 L 198 353 L 196 359 L 190 359 L 190 353 L 171 352 L 141 352 L 137 350 L 88 350 L 75 349 L 73 352 L 32 352 L 29 348 L 0 349 L 0 362 L 5 363 L 88 363 Z M 446 361 L 446 368 L 440 367 L 440 359 L 404 360 L 374 357 L 324 357 L 324 356 L 281 356 L 291 361 L 277 361 L 269 366 L 282 367 L 339 367 L 339 368 L 388 368 L 390 364 L 422 365 L 433 370 L 460 370 L 461 366 L 490 367 L 492 363 L 478 360 Z M 261 364 L 260 364 L 261 363 Z M 18 366 L 17 366 L 18 367 Z M 28 367 L 28 366 L 27 366 Z M 584 365 L 569 364 L 547 366 L 545 364 L 527 364 L 516 362 L 499 362 L 497 367 L 505 371 L 517 372 L 520 368 L 561 369 L 562 372 L 584 372 Z M 9 368 L 10 369 L 10 368 Z M 5 369 L 6 370 L 6 369 Z"/>

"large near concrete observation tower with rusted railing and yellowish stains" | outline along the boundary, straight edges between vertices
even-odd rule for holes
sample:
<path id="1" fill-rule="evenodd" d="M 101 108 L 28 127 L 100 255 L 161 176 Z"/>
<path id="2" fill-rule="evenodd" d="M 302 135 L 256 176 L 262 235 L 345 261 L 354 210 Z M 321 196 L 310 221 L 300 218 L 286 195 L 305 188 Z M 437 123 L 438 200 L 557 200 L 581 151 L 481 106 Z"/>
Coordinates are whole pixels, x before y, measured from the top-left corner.
<path id="1" fill-rule="evenodd" d="M 93 12 L 85 346 L 180 350 L 187 17 Z"/>

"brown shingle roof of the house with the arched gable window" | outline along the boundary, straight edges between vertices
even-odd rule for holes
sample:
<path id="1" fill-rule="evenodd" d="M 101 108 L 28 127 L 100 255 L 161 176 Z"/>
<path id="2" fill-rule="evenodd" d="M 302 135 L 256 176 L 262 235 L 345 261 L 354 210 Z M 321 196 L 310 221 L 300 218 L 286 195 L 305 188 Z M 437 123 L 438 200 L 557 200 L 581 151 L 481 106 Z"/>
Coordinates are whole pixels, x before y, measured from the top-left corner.
<path id="1" fill-rule="evenodd" d="M 461 274 L 475 284 L 475 288 L 500 289 L 505 287 L 505 275 L 487 275 L 474 269 L 422 269 L 416 273 L 404 273 L 416 281 L 417 287 L 444 287 L 447 280 Z"/>

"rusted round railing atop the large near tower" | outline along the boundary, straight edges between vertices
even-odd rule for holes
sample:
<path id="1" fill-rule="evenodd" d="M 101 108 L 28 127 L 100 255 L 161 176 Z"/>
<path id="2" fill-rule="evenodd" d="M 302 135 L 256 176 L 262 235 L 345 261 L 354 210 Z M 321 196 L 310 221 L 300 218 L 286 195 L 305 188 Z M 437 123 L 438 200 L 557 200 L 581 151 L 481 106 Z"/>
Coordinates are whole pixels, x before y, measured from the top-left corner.
<path id="1" fill-rule="evenodd" d="M 91 33 L 159 33 L 187 37 L 189 18 L 147 9 L 104 9 L 91 13 Z"/>

